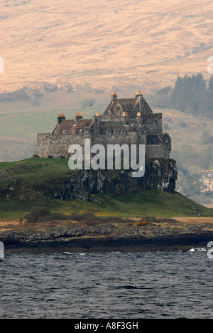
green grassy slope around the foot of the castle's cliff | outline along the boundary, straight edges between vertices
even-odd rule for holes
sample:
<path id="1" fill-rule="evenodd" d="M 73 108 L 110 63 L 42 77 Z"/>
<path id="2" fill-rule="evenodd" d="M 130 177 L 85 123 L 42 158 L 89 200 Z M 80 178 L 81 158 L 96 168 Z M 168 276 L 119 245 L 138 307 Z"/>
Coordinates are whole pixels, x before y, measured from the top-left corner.
<path id="1" fill-rule="evenodd" d="M 17 221 L 34 208 L 45 207 L 50 211 L 63 213 L 84 213 L 87 211 L 99 216 L 213 216 L 213 210 L 200 206 L 181 194 L 168 194 L 152 190 L 136 195 L 112 196 L 97 194 L 95 201 L 60 201 L 48 199 L 47 189 L 58 187 L 73 172 L 67 160 L 26 159 L 20 162 L 0 163 L 0 220 Z M 8 191 L 8 192 L 6 192 Z M 7 196 L 6 193 L 9 195 Z"/>

